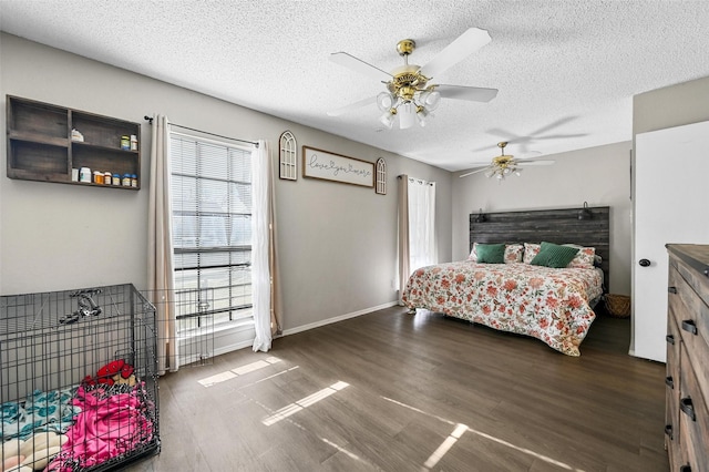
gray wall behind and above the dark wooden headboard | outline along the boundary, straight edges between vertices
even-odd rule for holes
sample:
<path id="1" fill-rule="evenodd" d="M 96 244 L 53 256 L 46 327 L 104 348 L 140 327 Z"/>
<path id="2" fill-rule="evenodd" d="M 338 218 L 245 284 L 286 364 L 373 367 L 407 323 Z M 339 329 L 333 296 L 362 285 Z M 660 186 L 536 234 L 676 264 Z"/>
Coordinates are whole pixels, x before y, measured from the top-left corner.
<path id="1" fill-rule="evenodd" d="M 469 215 L 547 208 L 610 206 L 610 287 L 630 294 L 630 142 L 544 156 L 555 163 L 527 167 L 504 182 L 483 173 L 453 177 L 453 259 L 467 257 Z"/>

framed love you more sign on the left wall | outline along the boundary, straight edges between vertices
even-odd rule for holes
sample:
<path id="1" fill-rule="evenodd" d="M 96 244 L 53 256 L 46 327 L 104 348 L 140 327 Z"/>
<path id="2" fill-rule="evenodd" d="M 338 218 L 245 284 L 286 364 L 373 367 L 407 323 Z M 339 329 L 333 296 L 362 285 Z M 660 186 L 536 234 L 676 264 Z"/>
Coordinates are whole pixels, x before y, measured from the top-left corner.
<path id="1" fill-rule="evenodd" d="M 302 146 L 302 176 L 371 188 L 374 186 L 374 164 Z"/>

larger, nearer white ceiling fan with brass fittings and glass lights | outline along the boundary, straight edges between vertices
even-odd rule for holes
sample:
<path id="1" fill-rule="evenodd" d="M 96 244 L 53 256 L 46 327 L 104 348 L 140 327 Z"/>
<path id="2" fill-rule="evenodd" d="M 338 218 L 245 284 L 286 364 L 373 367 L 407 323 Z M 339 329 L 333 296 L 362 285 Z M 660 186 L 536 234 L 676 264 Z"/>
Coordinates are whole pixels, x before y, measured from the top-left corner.
<path id="1" fill-rule="evenodd" d="M 361 106 L 377 103 L 379 109 L 384 112 L 380 117 L 384 126 L 392 129 L 398 116 L 399 127 L 407 129 L 413 126 L 417 121 L 421 126 L 425 126 L 427 119 L 433 116 L 431 112 L 438 107 L 441 99 L 489 102 L 497 95 L 497 89 L 429 84 L 429 81 L 490 41 L 487 31 L 471 28 L 421 66 L 409 64 L 409 54 L 415 49 L 415 42 L 411 39 L 401 40 L 397 44 L 397 51 L 399 55 L 403 57 L 404 63 L 391 72 L 383 71 L 347 52 L 335 52 L 330 54 L 330 61 L 382 82 L 387 91 L 377 96 L 332 110 L 328 112 L 328 115 L 339 116 Z"/>

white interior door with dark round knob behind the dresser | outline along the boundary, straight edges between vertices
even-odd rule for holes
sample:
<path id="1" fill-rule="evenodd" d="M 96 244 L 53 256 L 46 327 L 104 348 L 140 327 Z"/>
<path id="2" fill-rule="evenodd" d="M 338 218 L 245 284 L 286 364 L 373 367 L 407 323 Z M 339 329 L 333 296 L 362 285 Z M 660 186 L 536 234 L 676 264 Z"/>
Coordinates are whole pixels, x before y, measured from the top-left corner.
<path id="1" fill-rule="evenodd" d="M 631 353 L 665 362 L 665 245 L 709 243 L 709 122 L 641 133 L 635 145 Z"/>

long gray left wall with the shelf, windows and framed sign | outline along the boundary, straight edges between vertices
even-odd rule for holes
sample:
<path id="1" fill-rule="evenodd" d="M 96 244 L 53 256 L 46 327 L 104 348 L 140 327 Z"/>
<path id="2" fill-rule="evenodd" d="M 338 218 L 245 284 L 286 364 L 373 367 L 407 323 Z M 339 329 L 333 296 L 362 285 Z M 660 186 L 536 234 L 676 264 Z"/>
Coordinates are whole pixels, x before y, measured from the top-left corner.
<path id="1" fill-rule="evenodd" d="M 122 120 L 173 122 L 271 143 L 290 130 L 308 145 L 388 164 L 386 196 L 299 177 L 276 179 L 284 327 L 315 326 L 397 300 L 397 178 L 435 181 L 439 259 L 451 260 L 451 173 L 125 70 L 0 33 L 0 91 Z M 6 129 L 2 113 L 1 129 Z M 150 125 L 141 130 L 142 188 L 122 192 L 0 176 L 0 294 L 133 283 L 146 286 Z M 2 133 L 2 168 L 7 143 Z"/>

